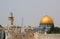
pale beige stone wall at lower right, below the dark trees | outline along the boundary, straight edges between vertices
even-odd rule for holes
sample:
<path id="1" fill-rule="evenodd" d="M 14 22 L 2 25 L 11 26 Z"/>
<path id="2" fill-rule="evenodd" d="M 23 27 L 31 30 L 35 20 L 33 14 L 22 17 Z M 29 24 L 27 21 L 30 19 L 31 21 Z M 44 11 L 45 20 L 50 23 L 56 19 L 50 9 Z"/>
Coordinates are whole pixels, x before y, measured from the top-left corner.
<path id="1" fill-rule="evenodd" d="M 38 33 L 35 33 L 34 39 L 60 39 L 60 34 L 38 34 Z"/>

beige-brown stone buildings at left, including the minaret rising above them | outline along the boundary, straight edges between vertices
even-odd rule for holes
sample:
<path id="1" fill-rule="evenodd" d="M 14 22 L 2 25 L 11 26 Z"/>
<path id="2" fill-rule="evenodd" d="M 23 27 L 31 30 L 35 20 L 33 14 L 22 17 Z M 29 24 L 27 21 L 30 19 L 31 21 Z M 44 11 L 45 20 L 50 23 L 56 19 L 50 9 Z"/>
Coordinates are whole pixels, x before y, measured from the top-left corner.
<path id="1" fill-rule="evenodd" d="M 5 39 L 33 39 L 35 30 L 13 24 L 13 13 L 9 16 L 9 25 L 5 28 Z"/>

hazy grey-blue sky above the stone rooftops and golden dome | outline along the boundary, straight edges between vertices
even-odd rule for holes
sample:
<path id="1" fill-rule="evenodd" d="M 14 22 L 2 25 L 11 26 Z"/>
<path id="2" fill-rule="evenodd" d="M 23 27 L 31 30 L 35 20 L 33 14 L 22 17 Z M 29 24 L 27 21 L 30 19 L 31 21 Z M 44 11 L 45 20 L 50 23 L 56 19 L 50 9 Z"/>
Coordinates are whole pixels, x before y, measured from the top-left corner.
<path id="1" fill-rule="evenodd" d="M 0 24 L 8 25 L 9 14 L 14 14 L 14 25 L 38 26 L 44 15 L 49 15 L 60 27 L 60 0 L 0 0 Z"/>

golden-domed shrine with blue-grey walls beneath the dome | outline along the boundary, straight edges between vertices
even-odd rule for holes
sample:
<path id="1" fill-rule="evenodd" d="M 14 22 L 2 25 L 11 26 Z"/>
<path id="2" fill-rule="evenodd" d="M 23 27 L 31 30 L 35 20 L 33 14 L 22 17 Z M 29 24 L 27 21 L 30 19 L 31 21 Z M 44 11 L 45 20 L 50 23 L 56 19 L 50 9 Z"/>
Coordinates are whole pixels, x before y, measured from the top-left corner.
<path id="1" fill-rule="evenodd" d="M 53 29 L 54 29 L 54 21 L 48 15 L 43 16 L 40 20 L 39 27 L 35 28 L 37 32 L 42 33 L 45 33 L 47 31 L 53 31 Z"/>

